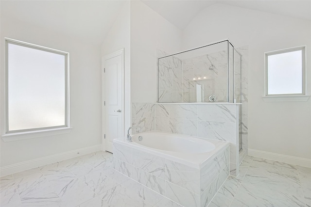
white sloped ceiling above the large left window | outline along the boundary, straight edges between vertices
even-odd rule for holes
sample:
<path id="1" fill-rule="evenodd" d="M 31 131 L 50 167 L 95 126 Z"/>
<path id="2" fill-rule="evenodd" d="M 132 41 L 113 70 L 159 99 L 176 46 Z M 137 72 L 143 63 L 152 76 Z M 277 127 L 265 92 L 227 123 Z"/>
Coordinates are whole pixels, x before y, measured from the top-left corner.
<path id="1" fill-rule="evenodd" d="M 119 0 L 0 0 L 1 18 L 101 44 L 124 4 Z"/>

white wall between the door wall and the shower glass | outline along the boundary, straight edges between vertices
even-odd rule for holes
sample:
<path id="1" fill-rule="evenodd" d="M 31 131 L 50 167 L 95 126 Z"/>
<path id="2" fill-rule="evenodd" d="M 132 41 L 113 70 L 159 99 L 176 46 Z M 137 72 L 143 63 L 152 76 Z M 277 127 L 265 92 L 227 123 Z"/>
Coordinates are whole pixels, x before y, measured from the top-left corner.
<path id="1" fill-rule="evenodd" d="M 181 49 L 181 31 L 141 1 L 131 2 L 131 101 L 157 101 L 156 49 Z"/>

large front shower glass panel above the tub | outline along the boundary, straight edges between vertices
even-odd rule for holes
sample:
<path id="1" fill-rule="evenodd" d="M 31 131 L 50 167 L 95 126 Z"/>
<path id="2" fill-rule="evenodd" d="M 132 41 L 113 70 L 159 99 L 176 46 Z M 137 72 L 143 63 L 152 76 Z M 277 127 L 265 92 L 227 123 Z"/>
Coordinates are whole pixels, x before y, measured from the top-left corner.
<path id="1" fill-rule="evenodd" d="M 228 102 L 228 42 L 159 58 L 158 102 Z"/>

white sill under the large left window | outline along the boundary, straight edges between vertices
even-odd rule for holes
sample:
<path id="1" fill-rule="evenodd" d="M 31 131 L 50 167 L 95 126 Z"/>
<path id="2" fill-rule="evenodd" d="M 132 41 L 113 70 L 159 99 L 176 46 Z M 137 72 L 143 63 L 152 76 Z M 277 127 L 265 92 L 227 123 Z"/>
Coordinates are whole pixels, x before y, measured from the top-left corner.
<path id="1" fill-rule="evenodd" d="M 72 129 L 71 127 L 62 127 L 62 128 L 51 128 L 51 129 L 35 130 L 35 131 L 23 131 L 23 132 L 4 134 L 1 137 L 4 142 L 13 142 L 17 140 L 26 140 L 26 139 L 32 139 L 32 138 L 37 138 L 37 137 L 67 134 L 67 133 L 70 133 L 71 129 Z"/>

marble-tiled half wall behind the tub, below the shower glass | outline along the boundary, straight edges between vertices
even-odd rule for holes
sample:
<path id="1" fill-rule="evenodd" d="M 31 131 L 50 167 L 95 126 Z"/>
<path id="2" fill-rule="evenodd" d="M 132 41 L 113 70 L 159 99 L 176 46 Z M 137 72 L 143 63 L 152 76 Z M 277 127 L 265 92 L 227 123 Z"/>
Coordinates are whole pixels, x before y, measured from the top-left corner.
<path id="1" fill-rule="evenodd" d="M 133 103 L 132 126 L 141 127 L 142 132 L 157 130 L 229 142 L 230 175 L 237 176 L 240 164 L 239 105 Z"/>

